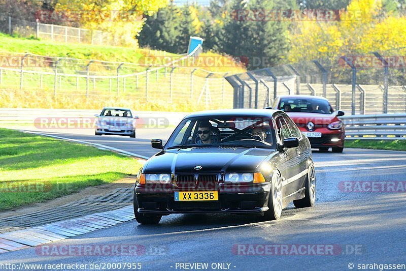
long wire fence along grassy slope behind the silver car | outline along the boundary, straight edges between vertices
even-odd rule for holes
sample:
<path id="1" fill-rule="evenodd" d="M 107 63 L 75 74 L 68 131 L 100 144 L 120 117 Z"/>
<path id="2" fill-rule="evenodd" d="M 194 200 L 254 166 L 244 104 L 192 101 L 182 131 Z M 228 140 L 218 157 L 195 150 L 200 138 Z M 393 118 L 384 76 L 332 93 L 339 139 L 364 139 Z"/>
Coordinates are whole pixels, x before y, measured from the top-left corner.
<path id="1" fill-rule="evenodd" d="M 199 51 L 200 47 L 178 61 L 193 58 Z M 227 73 L 177 66 L 176 62 L 154 68 L 33 54 L 2 56 L 2 62 L 0 88 L 6 92 L 35 89 L 53 97 L 124 97 L 152 103 L 188 102 L 208 109 L 232 108 L 233 90 L 224 79 Z"/>

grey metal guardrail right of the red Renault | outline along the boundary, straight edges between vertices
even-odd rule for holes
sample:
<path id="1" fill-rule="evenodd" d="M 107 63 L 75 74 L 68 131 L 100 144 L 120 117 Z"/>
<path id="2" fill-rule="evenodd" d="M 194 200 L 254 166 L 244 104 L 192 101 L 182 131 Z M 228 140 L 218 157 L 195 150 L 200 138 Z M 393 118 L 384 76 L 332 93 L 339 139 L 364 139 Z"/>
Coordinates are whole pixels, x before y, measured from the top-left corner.
<path id="1" fill-rule="evenodd" d="M 406 139 L 406 113 L 349 115 L 340 119 L 346 139 Z"/>

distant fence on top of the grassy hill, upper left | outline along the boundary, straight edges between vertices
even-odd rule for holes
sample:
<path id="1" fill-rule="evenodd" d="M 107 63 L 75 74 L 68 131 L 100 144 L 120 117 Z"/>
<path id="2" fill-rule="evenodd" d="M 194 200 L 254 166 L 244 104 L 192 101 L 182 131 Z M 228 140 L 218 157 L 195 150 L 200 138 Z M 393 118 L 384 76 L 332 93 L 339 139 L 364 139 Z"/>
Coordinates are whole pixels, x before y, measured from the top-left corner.
<path id="1" fill-rule="evenodd" d="M 126 38 L 117 33 L 103 32 L 78 27 L 56 24 L 46 24 L 0 16 L 0 32 L 10 35 L 18 34 L 21 37 L 36 37 L 61 43 L 84 43 L 92 45 L 134 46 Z"/>

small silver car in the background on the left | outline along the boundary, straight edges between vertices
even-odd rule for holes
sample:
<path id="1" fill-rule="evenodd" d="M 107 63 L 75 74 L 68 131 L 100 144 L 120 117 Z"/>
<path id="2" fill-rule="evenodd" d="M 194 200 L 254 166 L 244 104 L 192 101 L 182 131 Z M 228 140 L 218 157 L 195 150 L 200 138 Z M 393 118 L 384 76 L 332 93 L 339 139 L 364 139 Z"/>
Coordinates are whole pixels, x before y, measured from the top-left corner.
<path id="1" fill-rule="evenodd" d="M 95 135 L 136 137 L 136 119 L 129 108 L 105 107 L 97 117 Z"/>

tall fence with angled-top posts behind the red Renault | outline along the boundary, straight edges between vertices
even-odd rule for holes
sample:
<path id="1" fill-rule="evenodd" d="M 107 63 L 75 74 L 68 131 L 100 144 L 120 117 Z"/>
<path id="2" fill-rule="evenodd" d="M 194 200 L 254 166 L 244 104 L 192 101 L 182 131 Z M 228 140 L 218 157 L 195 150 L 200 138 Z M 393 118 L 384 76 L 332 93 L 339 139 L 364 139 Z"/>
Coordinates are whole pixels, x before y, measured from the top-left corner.
<path id="1" fill-rule="evenodd" d="M 316 95 L 354 114 L 406 112 L 406 49 L 302 62 L 227 76 L 234 108 L 272 106 L 279 95 Z"/>

